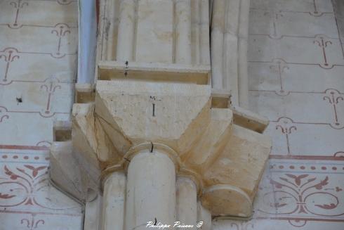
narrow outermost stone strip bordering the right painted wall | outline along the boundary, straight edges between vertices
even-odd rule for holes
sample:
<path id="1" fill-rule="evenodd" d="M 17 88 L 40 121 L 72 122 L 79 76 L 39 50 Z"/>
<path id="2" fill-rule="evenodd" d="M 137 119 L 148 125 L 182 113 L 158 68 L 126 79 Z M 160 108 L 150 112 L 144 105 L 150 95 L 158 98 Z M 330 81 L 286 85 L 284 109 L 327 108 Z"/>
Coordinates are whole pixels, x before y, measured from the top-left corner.
<path id="1" fill-rule="evenodd" d="M 250 0 L 241 0 L 239 16 L 239 106 L 249 108 L 249 73 L 247 46 L 249 39 Z"/>

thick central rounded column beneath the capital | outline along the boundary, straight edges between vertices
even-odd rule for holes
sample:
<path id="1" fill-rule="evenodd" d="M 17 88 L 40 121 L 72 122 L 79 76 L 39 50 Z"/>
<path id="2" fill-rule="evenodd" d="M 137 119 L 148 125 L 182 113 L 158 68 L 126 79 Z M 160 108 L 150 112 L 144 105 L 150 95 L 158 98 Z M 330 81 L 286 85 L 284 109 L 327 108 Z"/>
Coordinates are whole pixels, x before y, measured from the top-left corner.
<path id="1" fill-rule="evenodd" d="M 128 166 L 125 229 L 147 229 L 147 222 L 173 226 L 175 212 L 176 169 L 173 161 L 162 151 L 140 151 Z"/>

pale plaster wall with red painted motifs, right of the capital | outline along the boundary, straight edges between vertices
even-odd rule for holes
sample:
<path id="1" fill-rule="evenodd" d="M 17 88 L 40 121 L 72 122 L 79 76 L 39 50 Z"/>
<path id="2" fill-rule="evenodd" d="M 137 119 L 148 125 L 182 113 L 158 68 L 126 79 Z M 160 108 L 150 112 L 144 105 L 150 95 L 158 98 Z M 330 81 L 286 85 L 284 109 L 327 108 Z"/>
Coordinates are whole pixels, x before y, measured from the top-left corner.
<path id="1" fill-rule="evenodd" d="M 269 118 L 272 153 L 253 219 L 216 219 L 213 229 L 344 229 L 343 1 L 336 6 L 337 18 L 331 0 L 251 1 L 249 109 Z"/>

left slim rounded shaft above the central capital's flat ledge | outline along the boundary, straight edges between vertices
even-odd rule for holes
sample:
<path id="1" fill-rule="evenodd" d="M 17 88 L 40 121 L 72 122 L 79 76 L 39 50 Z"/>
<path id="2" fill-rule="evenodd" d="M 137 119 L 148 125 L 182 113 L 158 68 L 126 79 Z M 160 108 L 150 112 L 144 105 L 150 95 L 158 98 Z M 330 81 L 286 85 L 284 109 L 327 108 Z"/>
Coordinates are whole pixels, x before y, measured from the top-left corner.
<path id="1" fill-rule="evenodd" d="M 117 38 L 117 60 L 133 60 L 135 39 L 135 0 L 121 0 Z"/>

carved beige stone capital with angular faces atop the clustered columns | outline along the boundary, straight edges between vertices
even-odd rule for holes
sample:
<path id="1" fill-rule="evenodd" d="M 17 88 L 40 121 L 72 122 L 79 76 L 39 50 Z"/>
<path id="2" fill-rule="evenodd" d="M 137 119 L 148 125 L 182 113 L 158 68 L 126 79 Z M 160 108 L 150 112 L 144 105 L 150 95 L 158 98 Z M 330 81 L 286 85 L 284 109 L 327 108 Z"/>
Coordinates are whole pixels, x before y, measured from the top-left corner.
<path id="1" fill-rule="evenodd" d="M 74 104 L 72 141 L 65 148 L 82 159 L 84 171 L 97 172 L 93 189 L 113 172 L 126 173 L 136 154 L 159 151 L 174 163 L 178 177 L 194 181 L 212 215 L 249 217 L 271 142 L 248 129 L 252 122 L 242 124 L 245 117 L 262 124 L 254 115 L 212 108 L 211 99 L 207 85 L 98 81 L 94 103 Z M 86 193 L 87 186 L 79 188 Z"/>

